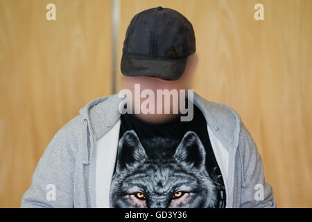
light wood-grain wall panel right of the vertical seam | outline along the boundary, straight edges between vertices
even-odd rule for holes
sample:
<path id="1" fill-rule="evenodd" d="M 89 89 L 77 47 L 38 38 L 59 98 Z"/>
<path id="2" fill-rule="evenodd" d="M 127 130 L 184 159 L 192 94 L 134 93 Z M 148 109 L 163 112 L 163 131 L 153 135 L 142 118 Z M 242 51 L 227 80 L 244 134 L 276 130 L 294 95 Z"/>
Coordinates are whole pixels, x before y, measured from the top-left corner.
<path id="1" fill-rule="evenodd" d="M 256 3 L 264 21 L 254 20 Z M 192 22 L 199 57 L 193 88 L 239 112 L 277 206 L 312 207 L 312 1 L 122 0 L 119 62 L 130 19 L 157 6 Z M 119 69 L 119 89 L 121 76 Z"/>

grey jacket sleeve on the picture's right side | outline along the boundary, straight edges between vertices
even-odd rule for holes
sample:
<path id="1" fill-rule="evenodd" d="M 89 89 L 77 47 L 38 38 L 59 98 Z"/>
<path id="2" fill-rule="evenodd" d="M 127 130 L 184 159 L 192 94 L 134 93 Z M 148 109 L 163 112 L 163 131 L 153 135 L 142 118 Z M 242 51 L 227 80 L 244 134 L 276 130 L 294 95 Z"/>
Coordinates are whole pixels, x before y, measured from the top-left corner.
<path id="1" fill-rule="evenodd" d="M 276 207 L 273 189 L 264 179 L 261 156 L 243 123 L 239 138 L 239 155 L 242 164 L 241 207 Z"/>

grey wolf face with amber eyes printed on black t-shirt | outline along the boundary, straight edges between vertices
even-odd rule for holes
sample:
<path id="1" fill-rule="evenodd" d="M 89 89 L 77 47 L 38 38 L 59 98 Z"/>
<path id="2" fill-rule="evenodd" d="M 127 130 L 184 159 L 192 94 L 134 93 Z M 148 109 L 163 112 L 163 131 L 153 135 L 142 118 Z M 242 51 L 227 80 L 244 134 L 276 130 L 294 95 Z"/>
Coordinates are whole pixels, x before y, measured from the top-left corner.
<path id="1" fill-rule="evenodd" d="M 119 140 L 111 207 L 215 207 L 205 155 L 198 135 L 189 131 L 171 157 L 149 157 L 135 131 L 128 130 Z"/>

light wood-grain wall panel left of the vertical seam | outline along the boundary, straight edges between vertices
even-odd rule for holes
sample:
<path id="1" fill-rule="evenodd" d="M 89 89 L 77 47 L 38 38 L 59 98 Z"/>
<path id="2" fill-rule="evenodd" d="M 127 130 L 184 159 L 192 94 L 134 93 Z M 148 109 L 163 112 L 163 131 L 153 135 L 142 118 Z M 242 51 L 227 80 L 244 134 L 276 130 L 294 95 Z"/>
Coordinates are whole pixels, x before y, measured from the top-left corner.
<path id="1" fill-rule="evenodd" d="M 0 207 L 21 195 L 53 135 L 110 94 L 111 1 L 0 0 Z"/>

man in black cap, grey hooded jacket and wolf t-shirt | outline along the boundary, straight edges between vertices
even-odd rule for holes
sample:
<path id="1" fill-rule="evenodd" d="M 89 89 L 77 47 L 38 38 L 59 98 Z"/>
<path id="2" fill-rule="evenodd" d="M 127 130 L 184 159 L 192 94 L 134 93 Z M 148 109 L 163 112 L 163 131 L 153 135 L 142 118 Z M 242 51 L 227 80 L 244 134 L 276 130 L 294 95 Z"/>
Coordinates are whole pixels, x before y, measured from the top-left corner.
<path id="1" fill-rule="evenodd" d="M 239 115 L 186 93 L 195 51 L 179 12 L 135 15 L 121 59 L 125 91 L 89 102 L 53 137 L 21 207 L 275 207 Z"/>

